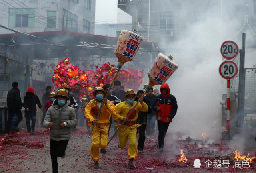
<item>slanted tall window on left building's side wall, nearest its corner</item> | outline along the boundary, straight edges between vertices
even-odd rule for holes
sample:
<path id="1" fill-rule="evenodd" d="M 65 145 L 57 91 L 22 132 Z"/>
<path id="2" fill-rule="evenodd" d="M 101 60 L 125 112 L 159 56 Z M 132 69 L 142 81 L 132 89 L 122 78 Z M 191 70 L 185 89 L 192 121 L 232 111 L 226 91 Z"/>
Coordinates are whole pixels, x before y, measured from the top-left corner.
<path id="1" fill-rule="evenodd" d="M 67 31 L 77 31 L 77 21 L 78 16 L 75 14 L 69 12 L 68 10 L 64 10 L 63 15 L 63 29 L 66 29 Z"/>

